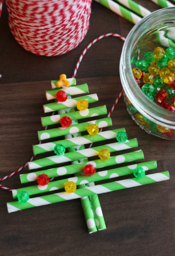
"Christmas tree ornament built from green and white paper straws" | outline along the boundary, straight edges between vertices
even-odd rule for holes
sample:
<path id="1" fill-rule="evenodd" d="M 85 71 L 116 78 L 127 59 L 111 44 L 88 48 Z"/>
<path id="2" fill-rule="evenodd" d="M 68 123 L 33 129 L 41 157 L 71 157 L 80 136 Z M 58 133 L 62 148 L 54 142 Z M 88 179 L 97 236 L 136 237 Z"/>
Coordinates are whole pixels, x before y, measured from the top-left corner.
<path id="1" fill-rule="evenodd" d="M 68 81 L 70 83 L 69 87 L 64 86 L 65 81 Z M 127 135 L 124 128 L 118 128 L 102 132 L 100 131 L 95 135 L 88 134 L 87 132 L 87 135 L 81 136 L 80 132 L 87 131 L 90 125 L 96 125 L 95 127 L 97 128 L 104 128 L 112 125 L 112 120 L 110 117 L 93 121 L 86 121 L 82 123 L 78 123 L 76 121 L 84 118 L 104 115 L 107 113 L 106 106 L 103 105 L 77 111 L 74 108 L 78 107 L 78 103 L 80 103 L 80 101 L 87 101 L 88 104 L 92 102 L 97 102 L 97 95 L 91 94 L 71 98 L 71 96 L 77 94 L 87 94 L 88 85 L 76 85 L 75 78 L 66 79 L 66 76 L 64 76 L 64 78 L 61 76 L 59 82 L 63 83 L 62 87 L 58 89 L 55 86 L 57 82 L 58 81 L 52 81 L 53 90 L 46 91 L 47 100 L 55 99 L 57 97 L 57 93 L 60 91 L 66 92 L 68 98 L 64 102 L 55 101 L 53 103 L 44 105 L 45 112 L 59 111 L 59 114 L 42 117 L 42 125 L 43 127 L 45 127 L 53 124 L 59 124 L 61 119 L 65 116 L 71 118 L 72 124 L 67 128 L 63 126 L 39 131 L 39 140 L 56 138 L 59 136 L 65 136 L 65 139 L 33 145 L 33 152 L 34 154 L 42 154 L 52 151 L 55 152 L 55 147 L 57 147 L 58 144 L 61 144 L 63 147 L 67 148 L 67 152 L 63 155 L 55 154 L 53 156 L 41 158 L 28 163 L 28 167 L 30 170 L 43 167 L 48 168 L 52 165 L 57 166 L 52 169 L 45 169 L 39 171 L 35 170 L 32 173 L 20 175 L 21 183 L 35 182 L 35 185 L 12 190 L 13 198 L 18 198 L 18 201 L 7 203 L 8 212 L 11 213 L 26 208 L 32 208 L 35 206 L 42 206 L 70 199 L 81 198 L 81 204 L 85 214 L 88 232 L 92 233 L 97 230 L 106 229 L 101 206 L 98 199 L 98 194 L 168 180 L 169 173 L 168 171 L 164 171 L 161 173 L 145 175 L 145 171 L 157 168 L 156 160 L 131 164 L 124 167 L 115 167 L 110 170 L 105 169 L 103 171 L 99 171 L 98 169 L 101 167 L 106 168 L 113 165 L 116 166 L 117 164 L 121 163 L 144 159 L 143 151 L 133 151 L 109 157 L 111 152 L 118 152 L 138 146 L 136 138 L 128 140 L 127 137 L 124 142 L 122 141 L 123 138 L 122 136 L 120 137 L 119 134 L 121 134 L 121 132 L 124 132 L 124 135 Z M 122 142 L 118 142 L 116 140 L 117 136 L 117 140 Z M 93 146 L 92 148 L 85 148 L 84 146 L 85 144 L 105 141 L 108 139 L 113 139 L 114 142 L 95 147 Z M 109 158 L 105 159 L 103 157 L 99 159 L 99 152 L 101 150 L 103 151 L 104 149 L 105 151 L 109 152 Z M 94 159 L 92 161 L 88 160 L 88 158 L 95 156 L 97 159 Z M 60 167 L 61 163 L 66 162 L 71 162 L 72 164 Z M 97 171 L 93 175 L 85 175 L 85 173 L 83 172 L 83 169 L 89 164 L 97 169 Z M 138 170 L 141 170 L 142 177 L 139 175 Z M 74 177 L 71 176 L 73 174 Z M 39 184 L 37 184 L 36 181 L 41 181 L 42 175 L 45 175 L 45 177 L 47 176 L 48 179 L 52 179 L 53 177 L 60 177 L 63 175 L 70 175 L 70 178 L 47 182 L 47 184 L 44 185 L 41 185 L 39 182 Z M 94 184 L 94 182 L 124 175 L 133 175 L 133 178 L 108 182 L 101 185 Z M 67 191 L 64 191 L 54 194 L 48 194 L 45 196 L 29 198 L 33 195 L 37 195 L 40 193 L 63 189 L 65 187 L 65 184 L 70 184 L 70 182 L 73 182 L 75 188 L 77 186 L 77 189 L 74 192 L 69 193 Z M 27 199 L 26 195 L 28 197 Z"/>

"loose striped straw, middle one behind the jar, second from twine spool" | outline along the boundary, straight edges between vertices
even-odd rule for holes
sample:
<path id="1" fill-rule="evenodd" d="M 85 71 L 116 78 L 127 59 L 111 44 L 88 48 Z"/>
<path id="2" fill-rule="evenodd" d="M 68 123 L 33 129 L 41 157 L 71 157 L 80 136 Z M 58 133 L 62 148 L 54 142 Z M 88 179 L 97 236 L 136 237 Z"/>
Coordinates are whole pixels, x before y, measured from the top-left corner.
<path id="1" fill-rule="evenodd" d="M 132 0 L 115 0 L 116 2 L 128 7 L 131 11 L 136 12 L 138 15 L 145 17 L 151 12 L 140 4 Z"/>

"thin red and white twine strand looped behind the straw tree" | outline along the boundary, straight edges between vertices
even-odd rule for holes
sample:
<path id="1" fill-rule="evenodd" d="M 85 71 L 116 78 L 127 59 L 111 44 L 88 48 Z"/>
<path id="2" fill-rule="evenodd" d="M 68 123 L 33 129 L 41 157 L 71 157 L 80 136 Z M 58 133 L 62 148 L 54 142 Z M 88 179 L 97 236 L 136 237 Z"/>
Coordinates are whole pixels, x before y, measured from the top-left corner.
<path id="1" fill-rule="evenodd" d="M 125 38 L 124 38 L 124 37 L 122 37 L 121 35 L 118 35 L 118 34 L 114 34 L 114 33 L 108 33 L 108 34 L 105 34 L 105 35 L 101 35 L 101 36 L 97 37 L 96 39 L 94 39 L 94 40 L 93 40 L 91 43 L 89 43 L 89 45 L 84 49 L 84 51 L 82 52 L 80 58 L 78 59 L 77 65 L 76 65 L 75 70 L 74 70 L 73 77 L 75 77 L 75 75 L 76 75 L 76 73 L 77 73 L 77 70 L 78 70 L 78 68 L 79 68 L 79 66 L 80 66 L 81 60 L 82 60 L 82 58 L 84 57 L 84 55 L 85 55 L 85 53 L 87 52 L 87 50 L 88 50 L 94 43 L 96 43 L 96 42 L 99 41 L 100 39 L 102 39 L 102 38 L 104 38 L 104 37 L 107 37 L 107 36 L 115 36 L 115 37 L 120 38 L 122 41 L 125 41 Z M 111 114 L 112 114 L 112 112 L 114 111 L 117 102 L 119 101 L 120 97 L 122 96 L 122 93 L 123 93 L 123 89 L 121 90 L 120 94 L 118 95 L 118 97 L 117 97 L 116 100 L 115 100 L 115 103 L 113 104 L 112 108 L 110 109 L 110 111 L 109 111 L 109 113 L 108 113 L 108 117 L 110 117 Z M 53 114 L 54 114 L 54 112 L 53 112 Z M 45 129 L 47 129 L 47 128 L 45 128 Z M 101 128 L 101 130 L 103 130 L 103 129 Z M 40 141 L 39 143 L 42 143 L 42 141 Z M 93 144 L 94 144 L 94 143 L 91 143 L 91 144 L 89 145 L 89 148 L 92 147 Z M 28 162 L 32 161 L 34 157 L 35 157 L 35 155 L 33 155 L 32 158 L 31 158 Z M 28 162 L 27 162 L 26 164 L 24 164 L 22 167 L 18 168 L 16 171 L 14 171 L 14 172 L 10 173 L 9 175 L 7 175 L 7 176 L 1 178 L 1 179 L 0 179 L 0 182 L 3 181 L 3 180 L 6 180 L 6 179 L 8 179 L 8 178 L 10 178 L 10 177 L 13 176 L 13 175 L 16 175 L 19 171 L 23 170 L 23 169 L 27 166 Z M 7 187 L 2 186 L 2 185 L 0 185 L 0 188 L 5 189 L 5 190 L 12 190 L 11 188 L 7 188 Z"/>

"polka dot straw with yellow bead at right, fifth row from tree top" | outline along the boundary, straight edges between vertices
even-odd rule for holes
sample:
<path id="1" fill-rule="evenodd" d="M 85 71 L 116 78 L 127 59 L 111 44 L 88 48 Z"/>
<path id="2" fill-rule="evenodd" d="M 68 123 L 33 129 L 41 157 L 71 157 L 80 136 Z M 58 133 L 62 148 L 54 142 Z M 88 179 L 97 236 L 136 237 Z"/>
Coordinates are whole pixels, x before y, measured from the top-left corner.
<path id="1" fill-rule="evenodd" d="M 50 138 L 64 136 L 64 135 L 67 135 L 67 134 L 73 134 L 73 133 L 77 133 L 77 132 L 84 132 L 84 131 L 87 131 L 88 125 L 91 122 L 97 124 L 99 128 L 112 126 L 111 118 L 106 117 L 106 118 L 101 118 L 101 119 L 98 119 L 98 120 L 73 124 L 73 125 L 70 125 L 69 127 L 65 128 L 65 129 L 63 129 L 62 127 L 58 127 L 58 128 L 38 131 L 38 138 L 39 138 L 39 140 L 46 140 L 46 139 L 50 139 Z"/>

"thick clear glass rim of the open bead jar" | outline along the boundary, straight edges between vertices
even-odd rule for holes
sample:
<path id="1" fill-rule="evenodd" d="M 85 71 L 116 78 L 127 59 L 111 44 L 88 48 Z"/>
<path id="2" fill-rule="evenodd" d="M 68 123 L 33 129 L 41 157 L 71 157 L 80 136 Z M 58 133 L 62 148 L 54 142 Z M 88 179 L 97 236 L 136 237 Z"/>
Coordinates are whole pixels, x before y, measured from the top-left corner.
<path id="1" fill-rule="evenodd" d="M 143 114 L 146 113 L 147 116 L 150 116 L 158 121 L 164 122 L 166 120 L 167 124 L 175 126 L 175 113 L 157 105 L 155 102 L 151 101 L 141 89 L 138 90 L 138 84 L 136 83 L 132 73 L 131 57 L 129 54 L 129 52 L 131 53 L 131 50 L 136 43 L 135 35 L 138 34 L 138 31 L 141 30 L 145 26 L 145 24 L 149 24 L 151 22 L 152 25 L 155 27 L 156 24 L 154 23 L 154 21 L 157 20 L 157 18 L 165 21 L 166 16 L 171 14 L 175 17 L 175 7 L 157 10 L 142 18 L 130 30 L 122 49 L 120 59 L 120 75 L 126 96 L 130 95 L 132 97 L 132 103 L 133 105 L 136 104 L 136 106 L 139 108 L 139 112 Z M 148 27 L 148 31 L 149 29 L 150 27 Z M 143 33 L 145 34 L 146 31 L 144 31 Z M 123 69 L 127 70 L 127 72 L 124 72 Z"/>

